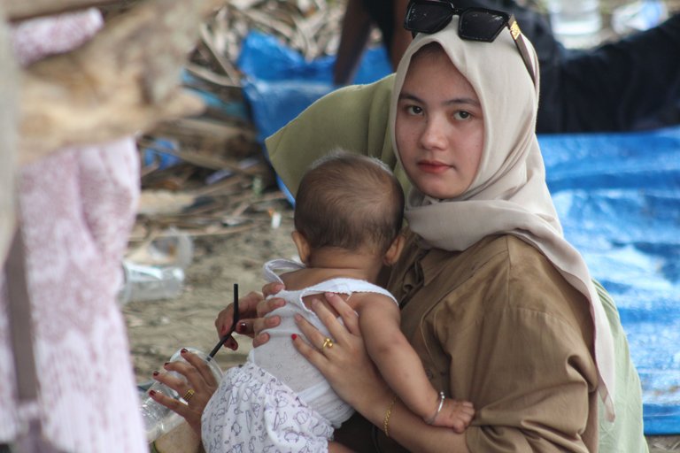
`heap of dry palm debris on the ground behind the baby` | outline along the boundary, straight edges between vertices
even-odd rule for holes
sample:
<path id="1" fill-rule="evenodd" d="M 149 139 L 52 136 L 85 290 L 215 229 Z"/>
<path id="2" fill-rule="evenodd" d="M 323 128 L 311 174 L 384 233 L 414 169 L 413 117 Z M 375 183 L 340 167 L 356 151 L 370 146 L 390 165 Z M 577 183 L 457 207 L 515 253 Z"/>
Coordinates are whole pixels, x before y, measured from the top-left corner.
<path id="1" fill-rule="evenodd" d="M 199 116 L 162 122 L 138 139 L 145 164 L 143 193 L 154 199 L 155 211 L 140 206 L 133 242 L 170 226 L 194 236 L 275 227 L 274 216 L 290 213 L 248 116 L 236 61 L 243 39 L 254 29 L 276 36 L 307 59 L 335 53 L 343 14 L 344 2 L 230 0 L 201 25 L 183 81 L 208 105 Z M 158 142 L 176 146 L 166 149 Z M 164 157 L 150 161 L 155 151 Z M 161 165 L 166 157 L 181 163 Z"/>

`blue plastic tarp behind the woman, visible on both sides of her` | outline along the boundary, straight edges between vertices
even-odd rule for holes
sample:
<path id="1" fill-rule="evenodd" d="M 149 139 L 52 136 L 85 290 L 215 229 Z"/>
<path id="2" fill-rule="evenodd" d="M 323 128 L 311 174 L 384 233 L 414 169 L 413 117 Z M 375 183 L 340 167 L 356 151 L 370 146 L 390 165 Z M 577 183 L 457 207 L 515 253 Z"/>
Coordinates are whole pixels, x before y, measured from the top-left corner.
<path id="1" fill-rule="evenodd" d="M 334 88 L 333 62 L 248 36 L 238 63 L 261 138 Z M 388 73 L 385 52 L 369 50 L 355 82 Z M 539 142 L 565 235 L 619 307 L 642 380 L 645 434 L 680 434 L 680 127 Z"/>

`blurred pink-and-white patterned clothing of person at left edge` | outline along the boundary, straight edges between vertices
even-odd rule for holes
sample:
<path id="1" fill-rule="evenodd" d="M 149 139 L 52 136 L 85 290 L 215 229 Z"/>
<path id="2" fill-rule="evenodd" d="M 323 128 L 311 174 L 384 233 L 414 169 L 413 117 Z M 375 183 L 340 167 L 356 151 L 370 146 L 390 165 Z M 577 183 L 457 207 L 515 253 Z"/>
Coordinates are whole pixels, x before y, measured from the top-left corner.
<path id="1" fill-rule="evenodd" d="M 24 62 L 66 51 L 69 42 L 80 45 L 101 26 L 101 17 L 84 12 L 31 23 L 14 35 Z M 115 301 L 138 178 L 129 138 L 58 150 L 22 169 L 19 205 L 41 414 L 47 436 L 67 451 L 148 452 L 126 326 Z M 0 287 L 2 443 L 14 437 L 18 420 L 4 278 Z"/>

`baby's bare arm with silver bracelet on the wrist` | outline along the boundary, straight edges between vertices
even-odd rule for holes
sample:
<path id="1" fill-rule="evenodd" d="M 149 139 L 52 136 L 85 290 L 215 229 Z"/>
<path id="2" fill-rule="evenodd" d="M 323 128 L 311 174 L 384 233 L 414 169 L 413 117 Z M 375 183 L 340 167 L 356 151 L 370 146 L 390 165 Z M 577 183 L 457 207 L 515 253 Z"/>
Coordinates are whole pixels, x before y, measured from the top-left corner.
<path id="1" fill-rule="evenodd" d="M 384 380 L 413 413 L 431 425 L 452 427 L 462 433 L 475 414 L 472 403 L 447 398 L 437 413 L 439 392 L 429 383 L 421 358 L 399 329 L 397 304 L 389 297 L 375 294 L 362 294 L 361 298 L 357 304 L 359 327 L 368 355 Z M 437 417 L 432 420 L 435 414 Z"/>

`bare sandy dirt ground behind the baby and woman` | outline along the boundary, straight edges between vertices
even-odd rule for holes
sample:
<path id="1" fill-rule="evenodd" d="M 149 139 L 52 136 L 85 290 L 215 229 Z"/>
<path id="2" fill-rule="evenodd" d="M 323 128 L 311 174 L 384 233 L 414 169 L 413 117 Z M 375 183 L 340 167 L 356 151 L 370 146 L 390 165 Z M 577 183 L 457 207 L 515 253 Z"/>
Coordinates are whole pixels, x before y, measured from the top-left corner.
<path id="1" fill-rule="evenodd" d="M 233 284 L 238 283 L 242 296 L 259 291 L 263 281 L 261 266 L 267 259 L 296 256 L 290 241 L 290 206 L 279 201 L 276 211 L 282 214 L 282 222 L 275 229 L 264 212 L 246 231 L 194 238 L 194 257 L 181 296 L 123 307 L 138 382 L 150 380 L 151 372 L 178 348 L 190 346 L 205 352 L 213 349 L 218 341 L 213 322 L 231 302 Z M 236 352 L 221 349 L 217 354 L 215 358 L 222 369 L 245 360 L 250 341 L 241 337 L 239 344 Z M 652 453 L 680 452 L 680 436 L 653 436 L 648 441 Z"/>

